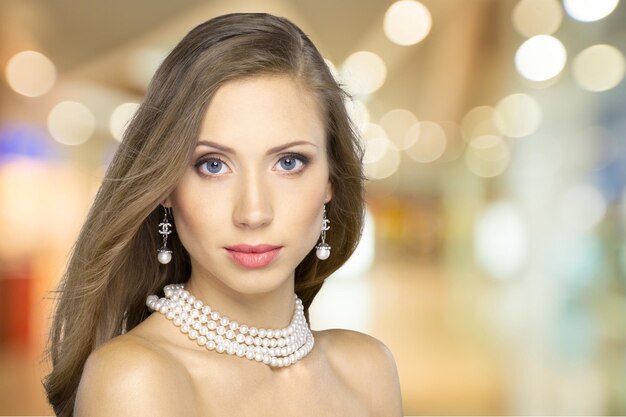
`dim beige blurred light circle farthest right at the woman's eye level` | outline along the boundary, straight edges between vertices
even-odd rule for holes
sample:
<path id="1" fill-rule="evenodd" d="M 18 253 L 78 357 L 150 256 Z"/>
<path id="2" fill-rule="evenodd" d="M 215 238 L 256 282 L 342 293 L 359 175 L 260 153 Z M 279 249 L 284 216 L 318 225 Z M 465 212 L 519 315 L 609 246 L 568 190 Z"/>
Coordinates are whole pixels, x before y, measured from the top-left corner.
<path id="1" fill-rule="evenodd" d="M 509 146 L 496 135 L 479 136 L 472 139 L 465 150 L 465 165 L 479 177 L 496 177 L 509 166 Z"/>

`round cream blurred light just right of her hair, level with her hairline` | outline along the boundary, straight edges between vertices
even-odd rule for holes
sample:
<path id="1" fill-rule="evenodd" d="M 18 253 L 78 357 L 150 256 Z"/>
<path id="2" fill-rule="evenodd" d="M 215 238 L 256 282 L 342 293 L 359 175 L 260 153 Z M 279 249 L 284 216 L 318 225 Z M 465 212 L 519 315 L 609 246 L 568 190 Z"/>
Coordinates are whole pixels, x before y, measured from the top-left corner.
<path id="1" fill-rule="evenodd" d="M 385 83 L 387 67 L 373 52 L 359 51 L 350 55 L 341 68 L 341 79 L 353 94 L 367 95 Z"/>

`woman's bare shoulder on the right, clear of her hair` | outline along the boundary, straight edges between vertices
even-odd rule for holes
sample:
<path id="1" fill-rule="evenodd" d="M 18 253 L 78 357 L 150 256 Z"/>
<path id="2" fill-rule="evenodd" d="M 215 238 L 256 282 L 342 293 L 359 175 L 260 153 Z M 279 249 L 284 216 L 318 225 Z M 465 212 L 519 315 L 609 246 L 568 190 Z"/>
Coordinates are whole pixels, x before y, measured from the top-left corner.
<path id="1" fill-rule="evenodd" d="M 329 329 L 319 335 L 329 360 L 363 395 L 373 415 L 403 415 L 398 369 L 387 345 L 354 330 Z"/>

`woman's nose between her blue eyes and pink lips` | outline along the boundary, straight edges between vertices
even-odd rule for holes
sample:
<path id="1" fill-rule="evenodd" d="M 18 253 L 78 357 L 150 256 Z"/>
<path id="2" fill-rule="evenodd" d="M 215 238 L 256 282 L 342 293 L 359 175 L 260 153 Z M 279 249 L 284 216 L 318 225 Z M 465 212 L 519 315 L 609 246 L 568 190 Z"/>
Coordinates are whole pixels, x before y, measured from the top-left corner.
<path id="1" fill-rule="evenodd" d="M 238 227 L 257 229 L 268 225 L 273 218 L 269 189 L 258 175 L 251 173 L 239 187 L 233 210 L 233 222 Z"/>

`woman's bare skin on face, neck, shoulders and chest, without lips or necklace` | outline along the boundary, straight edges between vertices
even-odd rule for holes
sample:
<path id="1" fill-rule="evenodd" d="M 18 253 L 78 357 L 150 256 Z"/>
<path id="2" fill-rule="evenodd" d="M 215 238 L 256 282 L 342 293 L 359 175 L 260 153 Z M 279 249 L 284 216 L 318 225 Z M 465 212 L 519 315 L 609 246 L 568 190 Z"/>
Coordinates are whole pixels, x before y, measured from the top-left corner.
<path id="1" fill-rule="evenodd" d="M 311 144 L 267 154 L 295 140 Z M 235 152 L 198 146 L 164 201 L 191 257 L 186 287 L 239 323 L 285 327 L 293 314 L 294 270 L 317 244 L 322 206 L 332 198 L 316 104 L 288 77 L 233 81 L 215 94 L 198 141 Z M 294 152 L 309 163 L 285 158 Z M 216 156 L 224 163 L 209 159 Z M 283 249 L 269 266 L 247 269 L 225 253 L 224 246 L 237 243 Z M 382 342 L 342 329 L 313 335 L 315 346 L 305 358 L 272 368 L 208 352 L 153 313 L 92 352 L 74 415 L 402 415 L 395 361 Z"/>

